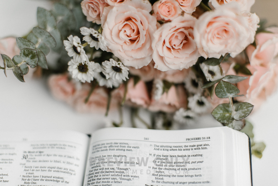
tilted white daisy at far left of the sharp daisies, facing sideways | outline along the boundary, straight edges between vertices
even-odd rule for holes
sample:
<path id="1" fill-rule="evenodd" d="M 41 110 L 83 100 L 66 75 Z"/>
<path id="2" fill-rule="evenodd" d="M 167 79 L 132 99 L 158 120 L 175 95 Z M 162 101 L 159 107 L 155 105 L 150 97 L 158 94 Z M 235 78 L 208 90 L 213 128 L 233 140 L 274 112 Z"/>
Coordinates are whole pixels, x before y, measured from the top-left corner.
<path id="1" fill-rule="evenodd" d="M 68 36 L 68 40 L 64 40 L 64 45 L 69 57 L 73 57 L 76 62 L 89 61 L 78 36 Z"/>

